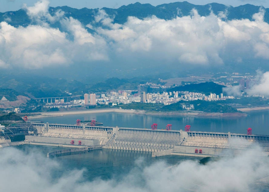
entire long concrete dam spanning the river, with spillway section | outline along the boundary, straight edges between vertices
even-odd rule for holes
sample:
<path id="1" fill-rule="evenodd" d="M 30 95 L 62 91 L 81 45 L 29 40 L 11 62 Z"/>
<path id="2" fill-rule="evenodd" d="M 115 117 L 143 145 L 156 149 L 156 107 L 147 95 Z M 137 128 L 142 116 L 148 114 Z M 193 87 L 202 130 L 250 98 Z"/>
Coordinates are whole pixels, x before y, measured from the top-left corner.
<path id="1" fill-rule="evenodd" d="M 258 144 L 269 154 L 269 135 L 159 130 L 127 127 L 67 125 L 32 122 L 25 144 L 149 151 L 153 157 L 185 155 L 196 157 L 244 153 Z M 15 125 L 13 125 L 14 129 Z M 30 128 L 28 127 L 30 130 Z"/>

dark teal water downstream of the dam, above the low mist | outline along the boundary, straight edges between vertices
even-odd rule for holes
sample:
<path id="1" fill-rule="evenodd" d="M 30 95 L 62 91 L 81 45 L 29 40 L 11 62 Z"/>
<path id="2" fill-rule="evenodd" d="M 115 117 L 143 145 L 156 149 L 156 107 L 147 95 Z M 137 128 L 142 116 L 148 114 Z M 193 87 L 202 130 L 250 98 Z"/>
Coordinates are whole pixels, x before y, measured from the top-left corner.
<path id="1" fill-rule="evenodd" d="M 48 152 L 61 150 L 64 147 L 23 145 L 17 146 L 25 154 L 41 154 L 44 158 Z M 43 159 L 44 159 L 43 158 Z M 41 158 L 42 159 L 42 158 Z M 168 155 L 164 157 L 151 157 L 151 152 L 128 151 L 115 149 L 101 149 L 96 151 L 87 151 L 71 155 L 62 155 L 50 157 L 52 161 L 57 161 L 59 166 L 51 173 L 51 177 L 59 178 L 62 175 L 68 175 L 72 170 L 84 170 L 84 180 L 94 180 L 101 178 L 121 179 L 134 168 L 143 170 L 157 161 L 164 161 L 168 166 L 176 165 L 184 160 L 200 160 L 199 157 L 184 157 L 177 155 Z M 160 170 L 161 171 L 161 170 Z"/>

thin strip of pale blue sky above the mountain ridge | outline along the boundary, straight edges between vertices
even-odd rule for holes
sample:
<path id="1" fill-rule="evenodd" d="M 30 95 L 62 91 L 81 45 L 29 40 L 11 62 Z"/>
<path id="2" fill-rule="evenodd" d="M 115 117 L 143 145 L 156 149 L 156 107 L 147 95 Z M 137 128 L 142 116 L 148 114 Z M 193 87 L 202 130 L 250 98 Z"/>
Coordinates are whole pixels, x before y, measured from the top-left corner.
<path id="1" fill-rule="evenodd" d="M 23 4 L 27 4 L 27 6 L 33 6 L 36 0 L 1 0 L 0 2 L 0 12 L 6 11 L 15 11 L 22 8 Z M 118 8 L 122 5 L 128 5 L 130 3 L 150 3 L 151 5 L 160 5 L 163 3 L 171 3 L 175 1 L 170 0 L 51 0 L 50 6 L 64 6 L 67 5 L 73 8 Z M 267 0 L 189 0 L 188 2 L 196 4 L 196 5 L 205 5 L 208 3 L 216 2 L 224 5 L 232 5 L 239 6 L 247 3 L 253 5 L 263 5 L 265 8 L 269 7 L 269 1 Z"/>

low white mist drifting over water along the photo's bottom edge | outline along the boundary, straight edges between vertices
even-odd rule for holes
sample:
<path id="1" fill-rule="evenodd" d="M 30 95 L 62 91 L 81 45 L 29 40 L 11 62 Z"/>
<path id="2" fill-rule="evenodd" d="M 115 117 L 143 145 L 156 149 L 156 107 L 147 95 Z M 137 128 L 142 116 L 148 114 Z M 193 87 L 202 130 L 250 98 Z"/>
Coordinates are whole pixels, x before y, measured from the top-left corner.
<path id="1" fill-rule="evenodd" d="M 47 158 L 44 151 L 42 153 L 43 146 L 37 148 L 30 146 L 30 149 L 26 150 L 24 147 L 29 146 L 7 147 L 0 150 L 1 173 L 4 173 L 0 174 L 1 191 L 261 191 L 260 188 L 253 186 L 252 181 L 269 174 L 268 157 L 259 156 L 258 146 L 249 149 L 245 154 L 224 157 L 206 165 L 199 164 L 197 159 L 188 158 L 169 163 L 169 157 L 168 160 L 151 158 L 147 153 L 134 155 L 127 151 L 123 157 L 120 153 L 112 155 L 113 158 L 118 158 L 117 160 L 122 158 L 126 160 L 127 157 L 126 163 L 123 163 L 111 159 L 108 151 L 113 150 L 95 151 L 92 157 L 90 155 L 88 156 L 90 158 L 75 161 L 74 157 L 84 157 L 84 154 Z M 96 152 L 108 152 L 109 160 L 100 161 L 100 156 L 96 155 Z M 174 156 L 170 157 L 174 159 Z M 131 158 L 132 163 L 128 163 L 131 162 Z M 67 167 L 67 161 L 73 166 Z M 107 166 L 113 173 L 110 178 L 97 176 L 89 179 L 87 174 L 84 174 L 87 173 L 87 166 L 92 166 L 90 172 L 95 171 L 97 175 L 105 171 L 96 165 L 97 162 L 103 164 L 103 167 Z M 121 169 L 111 169 L 114 164 L 118 164 Z M 171 167 L 173 164 L 178 165 Z M 123 171 L 123 167 L 128 168 Z M 59 170 L 63 171 L 57 174 Z"/>

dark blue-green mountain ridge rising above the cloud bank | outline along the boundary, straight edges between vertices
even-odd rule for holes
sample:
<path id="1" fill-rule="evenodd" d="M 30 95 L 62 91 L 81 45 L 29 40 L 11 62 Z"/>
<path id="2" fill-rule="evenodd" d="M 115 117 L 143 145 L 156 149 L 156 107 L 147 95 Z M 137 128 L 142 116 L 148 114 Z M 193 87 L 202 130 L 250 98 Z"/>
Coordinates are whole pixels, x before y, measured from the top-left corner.
<path id="1" fill-rule="evenodd" d="M 225 20 L 231 19 L 250 19 L 252 20 L 252 15 L 259 12 L 260 6 L 255 6 L 251 4 L 241 5 L 238 7 L 226 6 L 219 3 L 210 3 L 206 5 L 194 5 L 184 2 L 174 2 L 168 4 L 161 4 L 157 6 L 153 6 L 151 4 L 141 4 L 136 2 L 134 4 L 123 5 L 120 8 L 101 8 L 105 10 L 105 12 L 114 17 L 115 23 L 125 23 L 127 21 L 128 16 L 135 16 L 137 18 L 143 19 L 152 15 L 157 16 L 161 19 L 170 20 L 175 18 L 176 16 L 186 16 L 190 15 L 191 10 L 195 8 L 197 9 L 199 15 L 207 16 L 212 11 L 215 15 L 218 15 L 220 12 L 227 13 L 227 18 Z M 49 12 L 54 15 L 59 9 L 65 12 L 65 16 L 73 17 L 78 19 L 82 24 L 87 25 L 94 20 L 94 15 L 98 12 L 98 8 L 89 9 L 89 8 L 71 8 L 68 6 L 62 7 L 50 7 Z M 269 23 L 269 8 L 264 8 L 264 21 Z M 211 11 L 210 11 L 211 10 Z M 9 18 L 9 19 L 7 19 Z M 31 24 L 31 20 L 26 14 L 24 9 L 19 9 L 18 11 L 9 11 L 5 13 L 0 13 L 0 22 L 6 21 L 10 25 L 15 27 L 27 26 Z M 53 27 L 60 27 L 59 23 L 51 23 Z"/>

